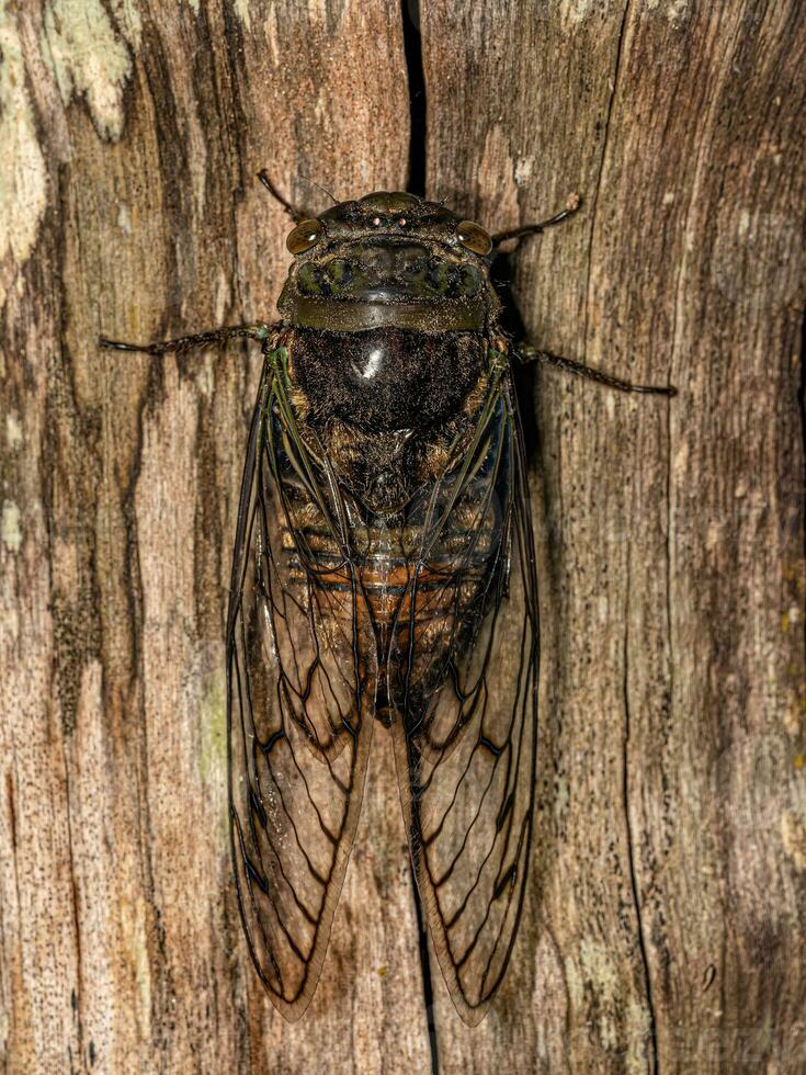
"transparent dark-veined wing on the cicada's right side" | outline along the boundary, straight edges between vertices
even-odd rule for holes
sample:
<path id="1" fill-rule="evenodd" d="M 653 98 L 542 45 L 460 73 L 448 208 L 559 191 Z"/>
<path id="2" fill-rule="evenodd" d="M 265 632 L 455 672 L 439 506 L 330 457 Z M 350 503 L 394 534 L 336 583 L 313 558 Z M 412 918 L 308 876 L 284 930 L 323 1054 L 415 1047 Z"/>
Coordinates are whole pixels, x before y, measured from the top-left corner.
<path id="1" fill-rule="evenodd" d="M 508 373 L 432 497 L 405 612 L 388 670 L 404 816 L 445 983 L 475 1026 L 512 952 L 534 813 L 537 580 Z"/>

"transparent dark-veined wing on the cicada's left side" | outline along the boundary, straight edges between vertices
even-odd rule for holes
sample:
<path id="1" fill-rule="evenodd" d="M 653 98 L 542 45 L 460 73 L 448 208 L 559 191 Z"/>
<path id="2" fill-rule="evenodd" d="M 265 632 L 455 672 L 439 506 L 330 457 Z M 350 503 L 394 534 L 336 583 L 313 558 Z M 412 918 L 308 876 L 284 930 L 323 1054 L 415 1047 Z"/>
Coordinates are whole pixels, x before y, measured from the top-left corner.
<path id="1" fill-rule="evenodd" d="M 376 671 L 360 638 L 368 618 L 333 495 L 266 346 L 227 623 L 229 815 L 249 951 L 292 1021 L 321 972 L 373 726 L 364 705 Z"/>

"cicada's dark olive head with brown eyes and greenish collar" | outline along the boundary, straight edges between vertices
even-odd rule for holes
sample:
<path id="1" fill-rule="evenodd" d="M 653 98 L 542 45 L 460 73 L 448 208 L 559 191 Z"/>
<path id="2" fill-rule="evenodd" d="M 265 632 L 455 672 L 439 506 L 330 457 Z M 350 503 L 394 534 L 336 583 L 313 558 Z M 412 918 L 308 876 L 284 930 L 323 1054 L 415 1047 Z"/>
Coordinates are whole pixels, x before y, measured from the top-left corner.
<path id="1" fill-rule="evenodd" d="M 378 191 L 341 202 L 288 235 L 277 303 L 293 326 L 361 331 L 484 331 L 499 310 L 490 236 L 435 202 Z"/>

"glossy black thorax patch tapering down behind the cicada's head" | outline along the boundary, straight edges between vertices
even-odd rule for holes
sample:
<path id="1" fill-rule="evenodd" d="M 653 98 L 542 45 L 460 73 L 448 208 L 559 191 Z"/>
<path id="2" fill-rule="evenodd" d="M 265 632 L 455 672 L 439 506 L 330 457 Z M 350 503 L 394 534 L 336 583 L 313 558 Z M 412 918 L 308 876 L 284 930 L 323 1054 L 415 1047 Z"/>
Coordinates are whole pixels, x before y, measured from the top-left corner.
<path id="1" fill-rule="evenodd" d="M 444 473 L 488 381 L 487 343 L 470 332 L 304 329 L 288 352 L 303 437 L 376 512 L 399 509 Z"/>

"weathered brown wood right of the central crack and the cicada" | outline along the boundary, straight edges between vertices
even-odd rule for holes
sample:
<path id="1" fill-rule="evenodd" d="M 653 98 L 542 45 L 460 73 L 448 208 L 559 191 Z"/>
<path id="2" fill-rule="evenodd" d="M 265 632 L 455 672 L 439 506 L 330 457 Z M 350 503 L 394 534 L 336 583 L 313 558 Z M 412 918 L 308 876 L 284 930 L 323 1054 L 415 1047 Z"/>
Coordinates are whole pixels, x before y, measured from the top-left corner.
<path id="1" fill-rule="evenodd" d="M 803 10 L 436 3 L 422 31 L 428 192 L 496 227 L 586 200 L 518 253 L 531 338 L 681 389 L 537 377 L 534 895 L 475 1033 L 440 991 L 446 1070 L 795 1071 Z"/>

